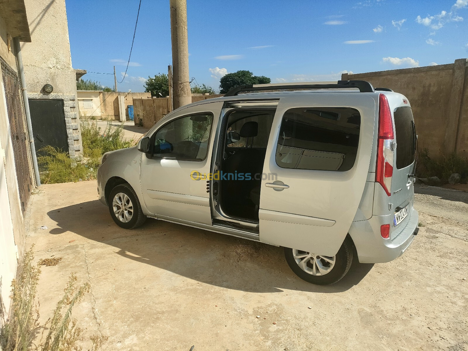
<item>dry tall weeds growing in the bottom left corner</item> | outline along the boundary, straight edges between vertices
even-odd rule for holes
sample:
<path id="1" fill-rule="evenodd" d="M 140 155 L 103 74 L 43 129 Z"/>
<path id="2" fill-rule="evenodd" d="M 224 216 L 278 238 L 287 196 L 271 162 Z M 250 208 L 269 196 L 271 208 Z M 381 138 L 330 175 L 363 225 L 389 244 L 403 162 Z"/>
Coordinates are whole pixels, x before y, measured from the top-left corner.
<path id="1" fill-rule="evenodd" d="M 72 351 L 81 350 L 80 342 L 86 329 L 77 326 L 72 319 L 73 306 L 79 303 L 89 283 L 76 286 L 76 275 L 68 278 L 64 296 L 57 303 L 51 317 L 44 324 L 39 321 L 39 301 L 36 298 L 37 284 L 41 269 L 33 264 L 32 248 L 24 256 L 24 264 L 19 278 L 11 283 L 11 312 L 0 303 L 0 347 L 4 351 Z M 39 334 L 41 334 L 39 336 Z M 105 336 L 91 336 L 91 350 L 99 350 L 107 340 Z"/>

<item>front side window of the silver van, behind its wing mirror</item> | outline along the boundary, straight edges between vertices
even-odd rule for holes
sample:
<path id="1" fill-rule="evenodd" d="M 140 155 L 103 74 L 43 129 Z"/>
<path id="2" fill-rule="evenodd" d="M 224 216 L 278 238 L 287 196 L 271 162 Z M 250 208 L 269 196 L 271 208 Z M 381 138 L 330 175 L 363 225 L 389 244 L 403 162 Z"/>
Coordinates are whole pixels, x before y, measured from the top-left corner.
<path id="1" fill-rule="evenodd" d="M 177 118 L 163 125 L 153 135 L 153 157 L 184 161 L 203 161 L 213 123 L 211 113 Z"/>

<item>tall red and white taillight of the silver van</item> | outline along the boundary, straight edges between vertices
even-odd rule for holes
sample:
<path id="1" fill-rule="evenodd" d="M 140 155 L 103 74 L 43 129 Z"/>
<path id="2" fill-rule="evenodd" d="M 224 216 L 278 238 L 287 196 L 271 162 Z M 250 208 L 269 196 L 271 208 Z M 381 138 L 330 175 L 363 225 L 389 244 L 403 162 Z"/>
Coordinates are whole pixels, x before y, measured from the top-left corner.
<path id="1" fill-rule="evenodd" d="M 387 96 L 379 95 L 379 137 L 377 142 L 377 168 L 375 181 L 379 183 L 388 196 L 391 195 L 393 175 L 393 121 Z"/>

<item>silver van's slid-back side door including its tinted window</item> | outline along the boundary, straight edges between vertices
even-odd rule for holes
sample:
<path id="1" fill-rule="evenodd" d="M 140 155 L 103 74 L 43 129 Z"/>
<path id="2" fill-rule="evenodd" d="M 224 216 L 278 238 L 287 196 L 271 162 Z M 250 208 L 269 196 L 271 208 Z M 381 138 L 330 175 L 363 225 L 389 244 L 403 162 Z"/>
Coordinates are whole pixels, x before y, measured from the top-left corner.
<path id="1" fill-rule="evenodd" d="M 260 193 L 260 241 L 334 256 L 361 199 L 376 104 L 360 93 L 282 98 Z"/>

